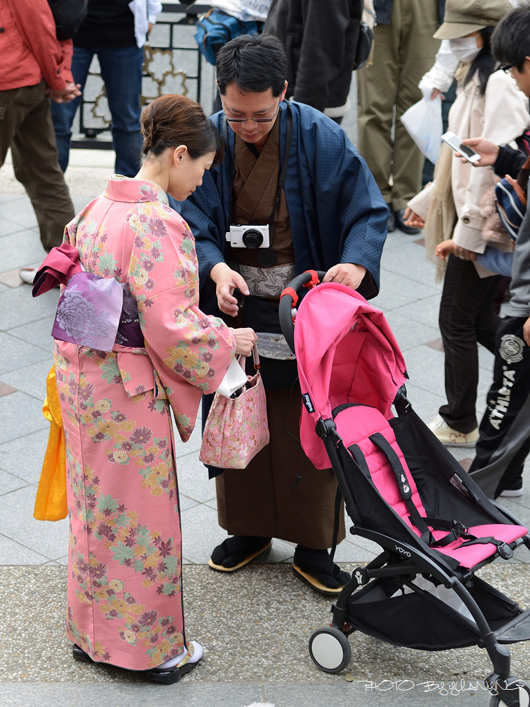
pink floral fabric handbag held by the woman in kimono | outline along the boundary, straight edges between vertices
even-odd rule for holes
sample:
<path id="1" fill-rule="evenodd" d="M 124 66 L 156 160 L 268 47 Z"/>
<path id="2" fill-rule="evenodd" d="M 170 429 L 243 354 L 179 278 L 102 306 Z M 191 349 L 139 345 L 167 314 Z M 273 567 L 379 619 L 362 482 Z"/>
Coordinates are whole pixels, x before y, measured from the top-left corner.
<path id="1" fill-rule="evenodd" d="M 257 346 L 253 376 L 230 397 L 216 392 L 206 419 L 199 460 L 220 469 L 245 469 L 269 444 L 265 389 L 259 373 Z"/>

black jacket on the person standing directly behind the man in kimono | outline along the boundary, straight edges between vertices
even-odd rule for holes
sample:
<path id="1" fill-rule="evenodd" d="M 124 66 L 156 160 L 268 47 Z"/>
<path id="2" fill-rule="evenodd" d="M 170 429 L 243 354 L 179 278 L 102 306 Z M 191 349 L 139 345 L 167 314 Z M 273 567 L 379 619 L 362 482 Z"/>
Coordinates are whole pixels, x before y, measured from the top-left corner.
<path id="1" fill-rule="evenodd" d="M 363 0 L 272 0 L 264 32 L 287 54 L 287 97 L 337 117 L 348 110 Z"/>

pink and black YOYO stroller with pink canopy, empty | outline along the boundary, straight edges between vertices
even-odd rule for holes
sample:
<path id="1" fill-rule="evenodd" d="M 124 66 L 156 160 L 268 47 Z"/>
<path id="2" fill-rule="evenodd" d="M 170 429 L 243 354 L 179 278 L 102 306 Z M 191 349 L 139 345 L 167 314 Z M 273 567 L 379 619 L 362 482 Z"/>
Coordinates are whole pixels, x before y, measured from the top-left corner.
<path id="1" fill-rule="evenodd" d="M 530 687 L 510 675 L 506 644 L 530 639 L 530 610 L 476 576 L 516 547 L 530 549 L 528 530 L 484 495 L 413 411 L 382 312 L 345 286 L 315 286 L 318 276 L 295 278 L 280 303 L 298 361 L 300 441 L 317 468 L 333 467 L 351 534 L 382 552 L 353 571 L 331 625 L 312 634 L 312 660 L 325 672 L 342 670 L 353 631 L 423 650 L 479 645 L 493 663 L 490 706 L 528 706 Z M 302 285 L 309 291 L 297 311 Z"/>

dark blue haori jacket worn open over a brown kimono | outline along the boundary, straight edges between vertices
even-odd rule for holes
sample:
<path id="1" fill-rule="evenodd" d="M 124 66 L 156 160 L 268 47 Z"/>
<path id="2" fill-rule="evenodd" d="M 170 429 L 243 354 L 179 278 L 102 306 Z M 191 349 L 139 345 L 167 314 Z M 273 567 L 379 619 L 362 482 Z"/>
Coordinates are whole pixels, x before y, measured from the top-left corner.
<path id="1" fill-rule="evenodd" d="M 298 273 L 326 271 L 340 262 L 358 263 L 371 275 L 371 281 L 365 278 L 362 293 L 367 299 L 375 297 L 388 211 L 372 173 L 331 119 L 295 101 L 284 101 L 280 108 L 281 160 L 288 111 L 293 115 L 284 189 Z M 211 117 L 221 133 L 223 116 L 219 112 Z M 211 296 L 209 272 L 216 263 L 225 262 L 234 141 L 235 134 L 228 127 L 228 156 L 223 163 L 205 173 L 201 187 L 186 201 L 171 201 L 196 239 L 203 301 Z"/>

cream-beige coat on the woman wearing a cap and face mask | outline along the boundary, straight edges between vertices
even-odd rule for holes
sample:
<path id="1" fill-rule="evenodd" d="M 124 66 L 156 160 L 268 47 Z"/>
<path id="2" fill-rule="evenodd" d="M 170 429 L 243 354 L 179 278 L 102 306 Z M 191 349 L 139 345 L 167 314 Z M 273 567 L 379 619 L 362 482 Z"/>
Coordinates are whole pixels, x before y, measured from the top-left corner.
<path id="1" fill-rule="evenodd" d="M 457 100 L 449 111 L 449 130 L 461 139 L 483 136 L 497 145 L 503 145 L 522 135 L 529 126 L 529 100 L 504 71 L 491 74 L 483 96 L 478 90 L 477 75 L 467 86 L 459 86 Z M 481 199 L 498 178 L 493 170 L 473 167 L 471 163 L 462 163 L 454 156 L 450 163 L 451 191 L 457 216 L 453 239 L 467 250 L 482 253 L 487 243 L 482 237 L 486 217 L 481 209 Z M 435 172 L 435 180 L 437 178 Z M 408 202 L 408 206 L 425 220 L 434 191 L 433 183 Z M 426 223 L 426 230 L 428 226 L 429 223 Z M 439 242 L 447 233 L 430 234 L 431 237 L 433 235 Z"/>

